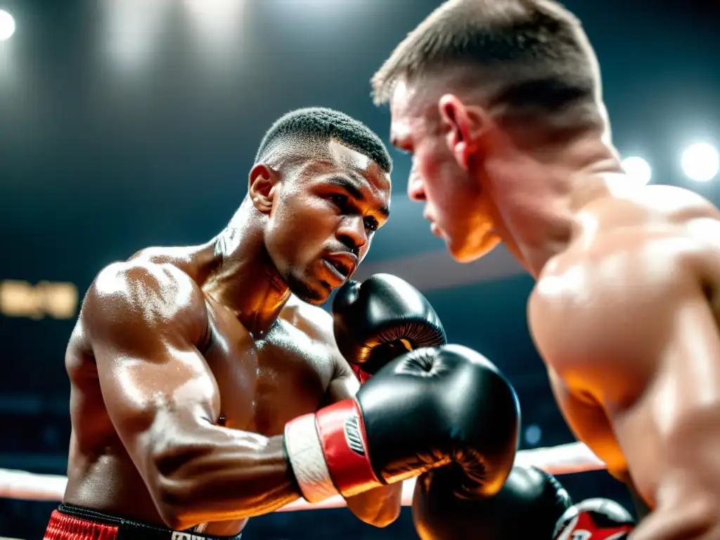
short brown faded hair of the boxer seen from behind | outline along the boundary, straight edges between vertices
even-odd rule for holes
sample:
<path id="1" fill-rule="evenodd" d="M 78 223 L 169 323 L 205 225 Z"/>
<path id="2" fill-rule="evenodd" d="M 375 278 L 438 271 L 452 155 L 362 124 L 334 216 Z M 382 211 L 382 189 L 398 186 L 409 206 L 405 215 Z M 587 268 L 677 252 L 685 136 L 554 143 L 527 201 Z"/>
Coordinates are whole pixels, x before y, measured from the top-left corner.
<path id="1" fill-rule="evenodd" d="M 595 53 L 580 21 L 554 0 L 449 0 L 397 46 L 372 78 L 376 104 L 395 84 L 470 68 L 489 104 L 538 112 L 600 99 Z"/>

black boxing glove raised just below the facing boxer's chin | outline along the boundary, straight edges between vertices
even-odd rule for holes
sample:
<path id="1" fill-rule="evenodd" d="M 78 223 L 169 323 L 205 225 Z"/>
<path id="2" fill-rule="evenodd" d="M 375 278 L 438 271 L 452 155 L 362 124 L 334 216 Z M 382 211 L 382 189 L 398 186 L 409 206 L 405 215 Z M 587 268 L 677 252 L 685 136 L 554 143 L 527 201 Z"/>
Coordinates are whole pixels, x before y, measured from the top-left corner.
<path id="1" fill-rule="evenodd" d="M 443 325 L 426 297 L 390 274 L 340 287 L 333 300 L 333 325 L 338 348 L 361 382 L 401 354 L 446 343 Z"/>

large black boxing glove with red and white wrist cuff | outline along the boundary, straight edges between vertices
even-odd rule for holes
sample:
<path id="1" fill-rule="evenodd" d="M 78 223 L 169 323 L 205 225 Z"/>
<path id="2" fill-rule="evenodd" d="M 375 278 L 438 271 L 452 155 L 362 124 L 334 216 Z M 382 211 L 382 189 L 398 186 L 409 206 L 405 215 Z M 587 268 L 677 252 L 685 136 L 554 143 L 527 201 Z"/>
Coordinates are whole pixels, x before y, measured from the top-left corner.
<path id="1" fill-rule="evenodd" d="M 462 346 L 391 361 L 353 399 L 285 426 L 284 449 L 311 503 L 456 464 L 462 496 L 492 495 L 513 466 L 518 399 L 485 357 Z"/>

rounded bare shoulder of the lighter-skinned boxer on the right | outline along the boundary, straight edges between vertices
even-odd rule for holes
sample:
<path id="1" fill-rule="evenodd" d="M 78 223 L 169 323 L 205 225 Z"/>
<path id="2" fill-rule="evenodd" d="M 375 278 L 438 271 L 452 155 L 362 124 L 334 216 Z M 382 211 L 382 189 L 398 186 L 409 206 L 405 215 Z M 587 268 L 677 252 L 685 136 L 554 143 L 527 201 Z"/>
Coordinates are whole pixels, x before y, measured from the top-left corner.
<path id="1" fill-rule="evenodd" d="M 558 364 L 572 387 L 574 376 L 582 387 L 588 378 L 603 379 L 602 372 L 618 362 L 629 372 L 651 369 L 644 361 L 657 359 L 678 310 L 708 302 L 696 264 L 709 256 L 708 248 L 681 230 L 657 235 L 636 228 L 621 237 L 600 236 L 587 251 L 564 256 L 541 275 L 529 305 L 541 354 Z"/>

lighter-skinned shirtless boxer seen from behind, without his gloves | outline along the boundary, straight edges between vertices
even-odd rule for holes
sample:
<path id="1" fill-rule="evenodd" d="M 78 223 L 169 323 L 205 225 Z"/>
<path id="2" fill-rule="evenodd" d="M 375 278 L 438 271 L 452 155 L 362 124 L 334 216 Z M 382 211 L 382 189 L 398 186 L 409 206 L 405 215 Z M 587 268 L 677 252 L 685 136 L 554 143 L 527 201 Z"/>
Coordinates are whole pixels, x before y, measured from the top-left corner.
<path id="1" fill-rule="evenodd" d="M 451 0 L 373 86 L 452 256 L 504 243 L 535 277 L 559 408 L 652 510 L 630 538 L 719 538 L 720 212 L 624 174 L 580 22 L 551 0 Z"/>

